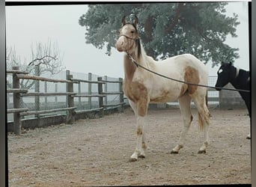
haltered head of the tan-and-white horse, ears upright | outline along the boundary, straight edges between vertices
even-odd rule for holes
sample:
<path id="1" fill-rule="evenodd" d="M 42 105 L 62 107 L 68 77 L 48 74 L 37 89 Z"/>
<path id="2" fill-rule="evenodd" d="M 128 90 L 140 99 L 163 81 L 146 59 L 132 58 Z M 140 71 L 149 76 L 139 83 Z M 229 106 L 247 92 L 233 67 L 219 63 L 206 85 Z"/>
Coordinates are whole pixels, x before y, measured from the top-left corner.
<path id="1" fill-rule="evenodd" d="M 133 19 L 132 19 L 133 18 Z M 119 29 L 118 41 L 115 44 L 118 52 L 135 52 L 135 48 L 139 45 L 138 37 L 138 17 L 134 14 L 124 16 L 122 25 Z"/>

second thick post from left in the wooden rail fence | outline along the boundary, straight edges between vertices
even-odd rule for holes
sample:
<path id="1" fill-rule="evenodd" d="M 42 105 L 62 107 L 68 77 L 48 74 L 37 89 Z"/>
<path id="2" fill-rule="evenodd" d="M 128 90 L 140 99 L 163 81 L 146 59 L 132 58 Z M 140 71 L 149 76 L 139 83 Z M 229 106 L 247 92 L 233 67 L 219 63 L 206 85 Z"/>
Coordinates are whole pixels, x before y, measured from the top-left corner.
<path id="1" fill-rule="evenodd" d="M 66 71 L 66 79 L 70 80 L 73 78 L 72 75 L 70 75 L 70 71 Z M 73 82 L 68 82 L 67 83 L 67 92 L 73 92 Z M 74 98 L 71 95 L 67 95 L 67 107 L 73 107 L 74 106 Z M 75 109 L 68 110 L 67 111 L 67 118 L 66 118 L 66 123 L 67 124 L 72 124 L 75 121 Z"/>

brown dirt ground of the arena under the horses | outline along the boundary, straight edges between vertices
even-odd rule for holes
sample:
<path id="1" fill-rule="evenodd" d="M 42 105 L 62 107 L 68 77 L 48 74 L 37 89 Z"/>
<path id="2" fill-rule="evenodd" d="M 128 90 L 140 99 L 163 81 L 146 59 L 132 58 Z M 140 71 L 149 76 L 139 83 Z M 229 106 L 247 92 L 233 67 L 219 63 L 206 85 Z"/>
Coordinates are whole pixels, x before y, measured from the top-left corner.
<path id="1" fill-rule="evenodd" d="M 145 159 L 129 162 L 135 117 L 124 113 L 8 134 L 9 186 L 147 186 L 251 183 L 251 141 L 246 109 L 211 109 L 210 145 L 197 111 L 179 154 L 170 154 L 183 127 L 179 109 L 148 111 Z"/>

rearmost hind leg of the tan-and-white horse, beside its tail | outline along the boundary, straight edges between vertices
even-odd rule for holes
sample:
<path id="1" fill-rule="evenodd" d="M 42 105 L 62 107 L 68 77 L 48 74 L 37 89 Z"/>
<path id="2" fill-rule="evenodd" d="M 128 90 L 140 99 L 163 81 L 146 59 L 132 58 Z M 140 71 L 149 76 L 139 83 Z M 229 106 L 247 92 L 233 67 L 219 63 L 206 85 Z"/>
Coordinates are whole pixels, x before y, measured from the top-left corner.
<path id="1" fill-rule="evenodd" d="M 193 98 L 196 107 L 198 108 L 198 125 L 200 130 L 204 130 L 204 143 L 198 150 L 198 153 L 206 153 L 206 148 L 209 145 L 209 124 L 210 112 L 206 105 L 205 96 L 196 96 Z"/>

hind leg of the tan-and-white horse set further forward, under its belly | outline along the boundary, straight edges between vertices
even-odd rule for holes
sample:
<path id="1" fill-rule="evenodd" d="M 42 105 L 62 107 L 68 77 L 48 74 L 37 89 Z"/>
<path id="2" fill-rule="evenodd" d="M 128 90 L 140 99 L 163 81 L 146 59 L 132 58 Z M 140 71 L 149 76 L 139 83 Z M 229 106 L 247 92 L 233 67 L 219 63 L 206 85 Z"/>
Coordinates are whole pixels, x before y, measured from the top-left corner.
<path id="1" fill-rule="evenodd" d="M 180 135 L 180 140 L 174 149 L 171 150 L 171 154 L 177 154 L 179 153 L 179 150 L 184 146 L 185 144 L 185 139 L 186 139 L 186 134 L 189 131 L 190 124 L 192 122 L 192 113 L 191 113 L 191 108 L 190 108 L 190 102 L 191 102 L 191 97 L 189 94 L 186 94 L 179 99 L 180 103 L 180 112 L 183 115 L 183 130 Z"/>

